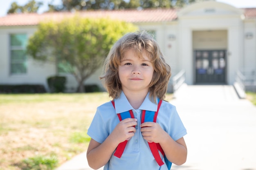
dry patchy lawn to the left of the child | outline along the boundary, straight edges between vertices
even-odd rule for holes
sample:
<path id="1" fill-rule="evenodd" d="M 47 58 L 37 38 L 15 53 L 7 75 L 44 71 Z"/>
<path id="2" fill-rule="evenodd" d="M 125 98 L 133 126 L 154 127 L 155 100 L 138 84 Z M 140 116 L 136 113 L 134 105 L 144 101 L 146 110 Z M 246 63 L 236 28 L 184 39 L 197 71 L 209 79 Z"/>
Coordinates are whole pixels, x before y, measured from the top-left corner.
<path id="1" fill-rule="evenodd" d="M 0 94 L 0 170 L 51 170 L 84 152 L 96 108 L 108 101 L 104 92 Z"/>

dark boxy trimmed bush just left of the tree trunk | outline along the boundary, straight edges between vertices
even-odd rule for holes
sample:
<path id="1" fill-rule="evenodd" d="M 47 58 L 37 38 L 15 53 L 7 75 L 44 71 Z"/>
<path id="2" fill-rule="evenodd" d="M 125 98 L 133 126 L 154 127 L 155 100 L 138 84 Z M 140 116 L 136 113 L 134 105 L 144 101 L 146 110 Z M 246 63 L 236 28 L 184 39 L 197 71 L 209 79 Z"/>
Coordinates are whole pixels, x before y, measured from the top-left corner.
<path id="1" fill-rule="evenodd" d="M 64 76 L 48 77 L 47 83 L 51 93 L 63 93 L 65 91 L 66 77 Z"/>

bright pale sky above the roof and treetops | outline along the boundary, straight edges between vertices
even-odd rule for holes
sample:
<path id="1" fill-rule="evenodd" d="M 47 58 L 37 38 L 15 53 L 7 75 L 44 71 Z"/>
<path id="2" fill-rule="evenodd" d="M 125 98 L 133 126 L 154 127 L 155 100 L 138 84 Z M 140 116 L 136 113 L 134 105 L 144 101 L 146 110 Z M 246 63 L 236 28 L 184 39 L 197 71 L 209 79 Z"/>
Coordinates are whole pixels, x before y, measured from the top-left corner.
<path id="1" fill-rule="evenodd" d="M 17 2 L 18 5 L 24 5 L 29 0 L 0 0 L 0 17 L 7 15 L 8 9 L 11 7 L 12 2 Z M 40 7 L 38 13 L 43 13 L 47 11 L 48 2 L 53 2 L 53 4 L 61 4 L 61 0 L 36 0 L 43 2 L 43 6 Z M 216 0 L 218 2 L 224 2 L 230 4 L 236 8 L 256 8 L 256 0 Z"/>

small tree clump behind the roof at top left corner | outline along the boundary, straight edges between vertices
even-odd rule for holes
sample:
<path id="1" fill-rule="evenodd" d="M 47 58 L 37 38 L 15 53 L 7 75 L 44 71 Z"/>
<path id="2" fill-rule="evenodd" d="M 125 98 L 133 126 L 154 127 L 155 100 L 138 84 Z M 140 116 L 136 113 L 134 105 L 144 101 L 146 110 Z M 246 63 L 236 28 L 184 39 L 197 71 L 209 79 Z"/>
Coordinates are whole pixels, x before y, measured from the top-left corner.
<path id="1" fill-rule="evenodd" d="M 35 13 L 42 5 L 42 2 L 36 2 L 35 0 L 30 0 L 24 6 L 20 6 L 16 2 L 13 2 L 11 3 L 11 8 L 7 11 L 7 13 Z"/>

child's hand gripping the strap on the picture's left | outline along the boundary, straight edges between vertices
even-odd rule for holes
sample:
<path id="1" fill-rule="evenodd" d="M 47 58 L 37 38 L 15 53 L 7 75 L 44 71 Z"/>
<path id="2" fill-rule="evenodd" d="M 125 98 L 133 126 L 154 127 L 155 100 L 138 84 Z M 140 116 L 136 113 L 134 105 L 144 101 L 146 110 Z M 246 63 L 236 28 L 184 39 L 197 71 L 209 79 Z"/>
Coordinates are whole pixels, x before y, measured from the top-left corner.
<path id="1" fill-rule="evenodd" d="M 134 126 L 137 125 L 137 119 L 127 118 L 119 122 L 115 129 L 111 132 L 111 136 L 114 137 L 115 141 L 119 143 L 129 140 L 134 136 L 136 129 Z"/>

